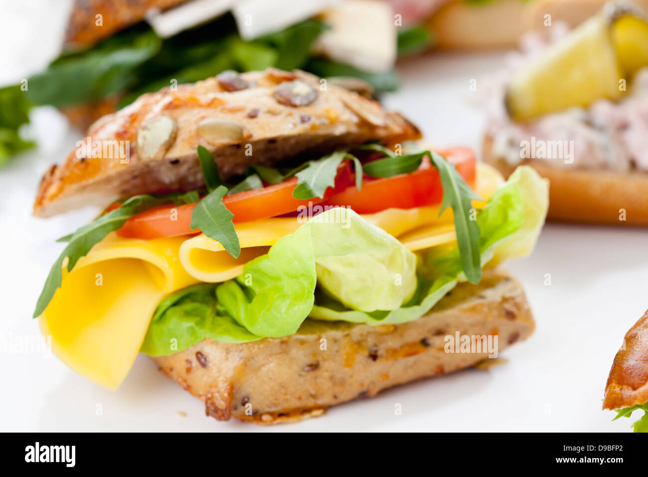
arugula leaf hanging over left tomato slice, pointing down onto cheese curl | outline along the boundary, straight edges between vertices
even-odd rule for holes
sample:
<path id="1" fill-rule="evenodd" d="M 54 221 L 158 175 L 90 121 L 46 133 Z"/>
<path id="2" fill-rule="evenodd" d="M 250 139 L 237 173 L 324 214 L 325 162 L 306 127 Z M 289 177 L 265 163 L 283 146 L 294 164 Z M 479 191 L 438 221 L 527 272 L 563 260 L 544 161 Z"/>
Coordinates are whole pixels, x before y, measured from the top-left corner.
<path id="1" fill-rule="evenodd" d="M 200 228 L 205 236 L 219 241 L 231 256 L 238 258 L 241 247 L 232 222 L 234 214 L 223 204 L 226 193 L 226 186 L 218 186 L 196 204 L 191 213 L 191 229 Z"/>

